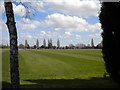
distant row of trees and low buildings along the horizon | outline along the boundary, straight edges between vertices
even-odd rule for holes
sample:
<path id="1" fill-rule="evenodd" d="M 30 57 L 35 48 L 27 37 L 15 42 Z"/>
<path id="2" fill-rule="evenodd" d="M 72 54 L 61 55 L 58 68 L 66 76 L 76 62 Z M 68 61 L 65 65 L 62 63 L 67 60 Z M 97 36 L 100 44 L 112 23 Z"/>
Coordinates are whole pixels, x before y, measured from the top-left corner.
<path id="1" fill-rule="evenodd" d="M 46 43 L 46 40 L 43 39 L 43 44 L 39 45 L 39 40 L 36 40 L 36 45 L 30 46 L 28 41 L 25 40 L 25 44 L 20 44 L 18 48 L 22 49 L 101 49 L 103 47 L 102 42 L 98 45 L 94 45 L 93 39 L 91 39 L 91 45 L 85 45 L 85 44 L 69 44 L 68 46 L 60 46 L 60 40 L 58 39 L 56 42 L 56 46 L 53 45 L 52 39 L 48 39 L 48 43 Z M 0 45 L 0 48 L 9 48 L 9 45 Z"/>

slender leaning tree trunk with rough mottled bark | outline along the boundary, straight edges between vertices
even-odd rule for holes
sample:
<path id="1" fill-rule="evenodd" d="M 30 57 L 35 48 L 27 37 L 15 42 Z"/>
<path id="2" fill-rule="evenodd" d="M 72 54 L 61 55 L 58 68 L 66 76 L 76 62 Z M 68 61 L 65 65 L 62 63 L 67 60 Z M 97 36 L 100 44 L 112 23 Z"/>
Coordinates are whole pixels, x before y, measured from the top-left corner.
<path id="1" fill-rule="evenodd" d="M 18 65 L 18 47 L 17 30 L 15 25 L 13 7 L 11 2 L 4 2 L 7 27 L 10 36 L 10 77 L 13 88 L 19 88 L 19 65 Z"/>

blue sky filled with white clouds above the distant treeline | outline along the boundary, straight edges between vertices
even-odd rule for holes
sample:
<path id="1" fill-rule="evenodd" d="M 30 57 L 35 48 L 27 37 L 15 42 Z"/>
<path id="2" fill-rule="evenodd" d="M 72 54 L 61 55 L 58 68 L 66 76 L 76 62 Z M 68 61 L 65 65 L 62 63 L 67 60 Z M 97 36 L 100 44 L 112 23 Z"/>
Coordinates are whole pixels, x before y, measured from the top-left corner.
<path id="1" fill-rule="evenodd" d="M 101 24 L 98 15 L 100 3 L 97 0 L 37 0 L 23 4 L 13 3 L 15 20 L 18 32 L 18 44 L 28 40 L 34 45 L 38 39 L 40 45 L 43 39 L 52 39 L 56 45 L 57 39 L 60 44 L 90 44 L 93 38 L 95 45 L 101 42 Z M 29 6 L 26 9 L 24 6 Z M 30 13 L 27 13 L 27 12 Z M 3 44 L 9 44 L 8 29 L 5 25 L 6 17 L 3 2 L 0 3 L 0 33 L 2 31 Z M 27 17 L 26 17 L 27 13 Z"/>

